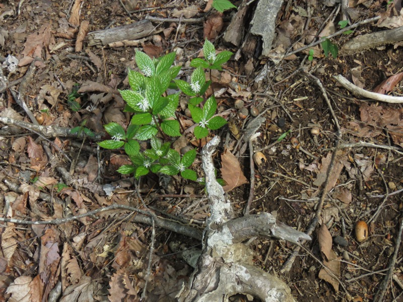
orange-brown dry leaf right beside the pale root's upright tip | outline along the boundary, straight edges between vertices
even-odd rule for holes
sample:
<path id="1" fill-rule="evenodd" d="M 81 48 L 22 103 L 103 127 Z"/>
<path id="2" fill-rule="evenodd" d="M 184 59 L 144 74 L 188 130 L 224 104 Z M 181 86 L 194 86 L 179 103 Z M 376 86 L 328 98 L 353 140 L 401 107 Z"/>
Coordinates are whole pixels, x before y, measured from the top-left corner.
<path id="1" fill-rule="evenodd" d="M 248 180 L 243 175 L 238 159 L 228 149 L 225 149 L 221 155 L 221 166 L 221 175 L 227 183 L 223 187 L 225 192 L 248 183 Z"/>

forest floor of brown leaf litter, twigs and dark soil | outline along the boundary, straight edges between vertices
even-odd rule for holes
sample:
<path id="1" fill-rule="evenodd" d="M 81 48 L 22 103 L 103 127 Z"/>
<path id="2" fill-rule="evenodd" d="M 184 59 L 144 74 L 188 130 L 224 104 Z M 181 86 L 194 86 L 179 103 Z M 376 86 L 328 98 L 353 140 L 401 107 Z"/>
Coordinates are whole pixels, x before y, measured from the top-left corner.
<path id="1" fill-rule="evenodd" d="M 128 89 L 127 69 L 137 68 L 137 50 L 157 58 L 176 51 L 175 64 L 184 66 L 180 76 L 186 80 L 190 60 L 199 55 L 206 36 L 216 49 L 238 52 L 238 47 L 223 42 L 222 35 L 236 11 L 207 13 L 207 2 L 190 0 L 80 3 L 0 4 L 0 217 L 60 219 L 112 204 L 145 209 L 142 198 L 159 217 L 203 230 L 209 215 L 203 185 L 179 177 L 163 183 L 156 174 L 135 184 L 131 175 L 116 172 L 127 156 L 120 150 L 97 149 L 97 142 L 106 138 L 104 124 L 113 121 L 125 128 L 130 121 L 117 89 Z M 256 3 L 250 4 L 252 10 Z M 340 30 L 339 5 L 330 1 L 327 5 L 316 0 L 285 2 L 273 47 L 281 52 L 282 44 L 290 53 L 309 45 L 319 29 L 320 36 Z M 225 148 L 237 156 L 248 180 L 227 192 L 239 216 L 249 198 L 250 182 L 254 182 L 251 213 L 270 212 L 305 232 L 320 211 L 312 241 L 298 251 L 289 270 L 283 265 L 295 246 L 276 240 L 250 242 L 255 265 L 283 279 L 296 300 L 372 301 L 395 257 L 384 301 L 403 301 L 403 247 L 397 246 L 394 254 L 403 218 L 403 109 L 398 103 L 354 95 L 333 77 L 341 74 L 365 90 L 403 96 L 401 42 L 354 54 L 342 51 L 355 36 L 402 26 L 401 3 L 393 7 L 382 1 L 350 1 L 350 6 L 351 24 L 375 16 L 381 20 L 330 39 L 339 50 L 335 58 L 331 53 L 325 56 L 316 45 L 275 64 L 260 56 L 262 45 L 255 39 L 223 70 L 214 70 L 218 112 L 228 126 L 209 137 L 222 137 L 217 168 L 223 168 L 220 154 Z M 161 20 L 153 21 L 153 35 L 135 42 L 90 46 L 88 35 L 85 38 L 87 32 L 135 24 L 146 16 Z M 164 22 L 167 18 L 175 20 Z M 189 18 L 196 20 L 186 22 Z M 39 59 L 33 61 L 35 57 Z M 193 122 L 185 114 L 185 103 L 181 96 L 177 114 L 188 128 Z M 240 135 L 254 118 L 253 110 L 265 118 L 253 141 L 254 152 L 260 150 L 265 163 L 252 165 L 251 179 L 250 150 L 242 148 Z M 44 128 L 18 123 L 34 123 L 27 112 L 42 126 L 83 125 L 97 135 L 78 137 L 66 131 L 48 136 Z M 8 120 L 6 125 L 5 118 L 17 122 Z M 287 135 L 279 139 L 282 134 Z M 191 169 L 203 177 L 200 141 L 188 131 L 172 142 L 178 150 L 186 146 L 197 150 Z M 146 280 L 152 227 L 134 222 L 135 216 L 129 210 L 111 209 L 58 224 L 2 222 L 0 301 L 138 300 Z M 368 225 L 363 242 L 355 234 L 360 220 Z M 164 228 L 155 231 L 147 300 L 173 301 L 192 269 L 169 244 L 191 248 L 200 242 Z M 323 273 L 323 261 L 333 276 Z"/>

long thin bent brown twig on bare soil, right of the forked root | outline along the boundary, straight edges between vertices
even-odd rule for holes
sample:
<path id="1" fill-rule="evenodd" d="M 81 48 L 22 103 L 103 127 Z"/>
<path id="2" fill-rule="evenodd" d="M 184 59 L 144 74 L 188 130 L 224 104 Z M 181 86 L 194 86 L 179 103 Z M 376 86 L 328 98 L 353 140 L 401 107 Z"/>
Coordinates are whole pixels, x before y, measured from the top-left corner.
<path id="1" fill-rule="evenodd" d="M 304 74 L 306 75 L 306 77 L 309 78 L 313 83 L 315 83 L 319 87 L 320 91 L 322 92 L 323 98 L 326 101 L 326 104 L 327 104 L 327 106 L 329 108 L 329 111 L 331 113 L 333 122 L 334 122 L 334 124 L 335 124 L 335 126 L 337 128 L 337 132 L 336 132 L 337 138 L 336 138 L 335 145 L 333 147 L 333 153 L 332 153 L 332 156 L 331 156 L 330 164 L 329 164 L 329 167 L 327 168 L 326 180 L 325 180 L 325 182 L 323 184 L 323 190 L 322 190 L 322 194 L 320 196 L 319 203 L 317 205 L 315 218 L 312 220 L 311 224 L 309 225 L 308 230 L 306 231 L 307 235 L 311 235 L 312 232 L 315 230 L 317 223 L 319 222 L 320 215 L 322 214 L 323 202 L 324 202 L 324 200 L 325 200 L 325 198 L 327 196 L 327 192 L 328 192 L 327 186 L 328 186 L 328 184 L 330 182 L 330 175 L 331 175 L 331 173 L 333 171 L 333 168 L 334 168 L 335 159 L 337 157 L 337 150 L 340 148 L 340 139 L 342 137 L 342 130 L 340 128 L 339 120 L 337 119 L 337 117 L 336 117 L 336 115 L 335 115 L 335 113 L 333 111 L 333 107 L 331 106 L 330 100 L 327 97 L 327 93 L 326 93 L 322 83 L 320 82 L 320 80 L 318 78 L 314 77 L 314 75 L 308 73 L 307 71 L 305 71 L 305 69 L 303 69 L 303 70 L 304 70 Z M 301 245 L 303 245 L 303 244 L 304 243 L 301 243 Z M 291 256 L 284 263 L 284 265 L 283 265 L 283 267 L 281 269 L 282 273 L 288 272 L 291 269 L 291 266 L 294 263 L 295 257 L 297 256 L 299 250 L 300 250 L 300 246 L 295 247 L 295 249 L 294 249 L 293 253 L 291 254 Z"/>

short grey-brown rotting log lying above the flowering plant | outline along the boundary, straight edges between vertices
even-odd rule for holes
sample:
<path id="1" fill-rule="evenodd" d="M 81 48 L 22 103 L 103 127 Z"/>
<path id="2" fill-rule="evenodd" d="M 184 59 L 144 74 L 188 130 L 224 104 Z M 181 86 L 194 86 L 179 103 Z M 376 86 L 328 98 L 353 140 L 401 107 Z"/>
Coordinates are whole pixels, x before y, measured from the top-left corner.
<path id="1" fill-rule="evenodd" d="M 87 35 L 88 46 L 108 45 L 123 40 L 137 40 L 156 33 L 150 20 L 91 32 Z"/>

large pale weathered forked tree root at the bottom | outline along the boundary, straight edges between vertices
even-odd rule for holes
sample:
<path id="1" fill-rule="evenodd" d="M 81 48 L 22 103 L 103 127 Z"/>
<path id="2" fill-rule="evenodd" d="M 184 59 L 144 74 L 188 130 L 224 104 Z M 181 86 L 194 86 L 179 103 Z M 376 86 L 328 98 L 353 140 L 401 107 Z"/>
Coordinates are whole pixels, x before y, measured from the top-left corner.
<path id="1" fill-rule="evenodd" d="M 299 244 L 300 240 L 310 240 L 310 237 L 276 221 L 269 213 L 233 219 L 230 203 L 225 200 L 214 174 L 212 154 L 219 142 L 216 136 L 203 148 L 211 216 L 197 267 L 178 300 L 228 301 L 230 296 L 243 293 L 262 301 L 294 301 L 284 281 L 253 266 L 253 251 L 242 241 L 259 236 Z"/>

